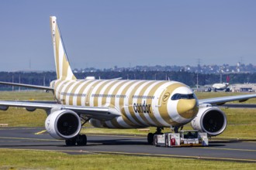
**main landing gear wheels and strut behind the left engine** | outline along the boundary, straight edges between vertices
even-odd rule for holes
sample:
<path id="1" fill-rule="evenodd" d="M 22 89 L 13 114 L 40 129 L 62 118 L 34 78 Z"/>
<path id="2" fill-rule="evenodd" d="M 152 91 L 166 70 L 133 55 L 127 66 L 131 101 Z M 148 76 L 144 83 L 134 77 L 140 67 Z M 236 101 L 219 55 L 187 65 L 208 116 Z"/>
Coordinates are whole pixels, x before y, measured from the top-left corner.
<path id="1" fill-rule="evenodd" d="M 83 117 L 81 117 L 81 119 L 84 120 L 83 124 L 81 124 L 81 127 L 86 124 L 88 121 L 90 121 L 90 119 L 85 119 Z M 76 137 L 71 138 L 71 139 L 66 139 L 66 145 L 67 146 L 85 146 L 87 144 L 87 137 L 85 134 L 78 134 Z"/>

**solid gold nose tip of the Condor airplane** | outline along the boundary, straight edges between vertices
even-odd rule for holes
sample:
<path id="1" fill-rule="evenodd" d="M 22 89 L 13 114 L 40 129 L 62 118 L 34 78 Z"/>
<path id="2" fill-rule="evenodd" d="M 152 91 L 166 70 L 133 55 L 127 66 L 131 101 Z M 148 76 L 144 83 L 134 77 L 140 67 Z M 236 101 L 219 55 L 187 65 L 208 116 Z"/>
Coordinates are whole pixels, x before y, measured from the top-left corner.
<path id="1" fill-rule="evenodd" d="M 177 104 L 178 114 L 184 118 L 192 119 L 198 113 L 196 99 L 181 99 Z"/>

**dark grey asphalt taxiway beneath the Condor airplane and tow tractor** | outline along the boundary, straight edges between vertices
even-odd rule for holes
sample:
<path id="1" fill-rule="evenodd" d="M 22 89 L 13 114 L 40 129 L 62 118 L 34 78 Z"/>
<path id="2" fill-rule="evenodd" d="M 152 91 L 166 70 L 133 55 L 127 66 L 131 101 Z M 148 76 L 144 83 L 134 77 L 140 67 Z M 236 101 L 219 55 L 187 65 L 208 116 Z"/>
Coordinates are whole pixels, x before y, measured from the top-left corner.
<path id="1" fill-rule="evenodd" d="M 67 147 L 43 128 L 0 128 L 0 148 L 62 151 L 68 154 L 120 154 L 196 158 L 256 163 L 256 141 L 210 141 L 208 147 L 162 148 L 147 138 L 125 135 L 87 135 L 88 145 Z"/>

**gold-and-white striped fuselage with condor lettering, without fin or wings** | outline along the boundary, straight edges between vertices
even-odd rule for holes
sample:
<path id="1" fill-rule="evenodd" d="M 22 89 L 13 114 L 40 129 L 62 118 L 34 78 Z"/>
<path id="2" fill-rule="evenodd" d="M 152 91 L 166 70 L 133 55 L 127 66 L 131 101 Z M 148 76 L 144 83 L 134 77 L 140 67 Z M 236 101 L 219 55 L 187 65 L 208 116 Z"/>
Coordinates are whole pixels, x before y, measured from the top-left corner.
<path id="1" fill-rule="evenodd" d="M 52 86 L 61 104 L 114 107 L 119 111 L 119 117 L 112 120 L 90 121 L 99 128 L 181 126 L 198 112 L 196 98 L 171 100 L 177 93 L 193 95 L 189 87 L 175 81 L 55 80 Z"/>

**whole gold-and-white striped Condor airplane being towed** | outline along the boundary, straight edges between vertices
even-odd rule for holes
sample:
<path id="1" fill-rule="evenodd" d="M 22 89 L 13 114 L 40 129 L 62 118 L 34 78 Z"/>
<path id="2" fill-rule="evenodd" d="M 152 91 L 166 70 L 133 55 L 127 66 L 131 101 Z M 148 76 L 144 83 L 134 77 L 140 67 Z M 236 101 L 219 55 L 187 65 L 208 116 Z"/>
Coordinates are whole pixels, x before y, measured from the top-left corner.
<path id="1" fill-rule="evenodd" d="M 56 103 L 0 100 L 0 110 L 9 107 L 45 110 L 47 132 L 53 138 L 65 140 L 67 146 L 87 144 L 86 135 L 80 131 L 88 122 L 95 128 L 155 127 L 155 133 L 147 134 L 149 144 L 163 128 L 179 131 L 188 123 L 194 130 L 216 136 L 227 127 L 227 117 L 217 105 L 256 97 L 247 94 L 199 100 L 190 87 L 170 80 L 95 80 L 92 77 L 78 80 L 67 59 L 55 16 L 50 16 L 50 31 L 57 80 L 50 82 L 50 87 L 0 83 L 51 91 Z"/>

